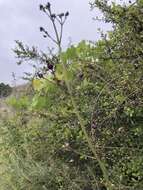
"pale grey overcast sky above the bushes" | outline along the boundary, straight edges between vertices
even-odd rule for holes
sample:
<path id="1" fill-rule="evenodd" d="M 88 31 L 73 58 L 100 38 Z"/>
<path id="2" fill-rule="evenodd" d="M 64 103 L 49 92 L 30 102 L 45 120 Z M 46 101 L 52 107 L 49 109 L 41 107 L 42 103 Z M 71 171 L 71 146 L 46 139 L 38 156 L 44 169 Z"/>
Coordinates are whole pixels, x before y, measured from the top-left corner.
<path id="1" fill-rule="evenodd" d="M 52 46 L 39 32 L 39 26 L 51 28 L 47 17 L 39 11 L 39 4 L 46 2 L 46 0 L 0 0 L 0 82 L 11 84 L 12 72 L 15 72 L 18 83 L 21 83 L 19 78 L 22 73 L 30 70 L 26 64 L 16 65 L 12 51 L 15 40 L 41 49 Z M 100 13 L 98 10 L 90 11 L 89 0 L 51 0 L 50 2 L 56 12 L 67 10 L 70 12 L 65 25 L 64 47 L 68 46 L 69 39 L 73 43 L 83 39 L 96 41 L 99 38 L 97 32 L 99 27 L 106 30 L 111 28 L 93 21 L 92 18 Z"/>

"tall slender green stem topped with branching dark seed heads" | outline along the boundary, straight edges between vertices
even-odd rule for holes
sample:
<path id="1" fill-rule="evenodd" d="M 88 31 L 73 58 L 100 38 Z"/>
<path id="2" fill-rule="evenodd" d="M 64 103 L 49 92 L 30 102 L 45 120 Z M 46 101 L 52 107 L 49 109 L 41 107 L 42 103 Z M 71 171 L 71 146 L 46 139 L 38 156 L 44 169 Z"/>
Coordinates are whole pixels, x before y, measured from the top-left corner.
<path id="1" fill-rule="evenodd" d="M 58 47 L 58 53 L 59 53 L 59 57 L 62 53 L 62 36 L 63 36 L 63 27 L 64 27 L 64 24 L 65 24 L 65 21 L 67 20 L 67 17 L 69 16 L 69 12 L 66 12 L 66 13 L 61 13 L 61 14 L 55 14 L 52 12 L 52 7 L 51 7 L 51 4 L 48 2 L 46 5 L 40 5 L 39 6 L 40 10 L 43 11 L 50 19 L 52 25 L 53 25 L 53 29 L 54 29 L 54 32 L 55 32 L 55 38 L 48 33 L 48 31 L 46 29 L 44 29 L 43 27 L 40 27 L 40 31 L 43 33 L 43 37 L 44 38 L 49 38 L 51 39 Z M 58 30 L 58 26 L 57 24 L 60 25 L 60 31 Z M 78 107 L 76 105 L 76 102 L 74 100 L 74 97 L 73 97 L 73 93 L 72 93 L 72 89 L 71 89 L 71 86 L 70 86 L 70 83 L 69 83 L 69 80 L 68 80 L 68 72 L 67 72 L 67 67 L 66 67 L 66 62 L 62 61 L 62 58 L 60 59 L 61 61 L 61 64 L 63 66 L 63 73 L 64 73 L 64 77 L 65 77 L 65 83 L 66 83 L 66 86 L 67 86 L 67 89 L 68 89 L 68 92 L 70 94 L 70 97 L 71 97 L 71 101 L 72 101 L 72 106 L 74 108 L 74 112 L 79 120 L 79 123 L 80 123 L 80 126 L 81 126 L 81 129 L 84 133 L 84 136 L 86 138 L 86 141 L 88 143 L 88 146 L 91 150 L 91 152 L 93 153 L 95 159 L 98 161 L 98 164 L 102 170 L 102 173 L 103 173 L 103 177 L 106 181 L 106 186 L 109 190 L 112 190 L 113 189 L 113 185 L 112 183 L 110 182 L 109 180 L 109 176 L 108 176 L 108 171 L 105 167 L 105 164 L 103 161 L 101 161 L 101 159 L 99 158 L 97 152 L 96 152 L 96 147 L 93 145 L 92 143 L 92 140 L 91 138 L 89 137 L 87 131 L 86 131 L 86 128 L 84 126 L 84 120 L 83 118 L 81 117 L 80 115 L 80 112 L 78 110 Z"/>

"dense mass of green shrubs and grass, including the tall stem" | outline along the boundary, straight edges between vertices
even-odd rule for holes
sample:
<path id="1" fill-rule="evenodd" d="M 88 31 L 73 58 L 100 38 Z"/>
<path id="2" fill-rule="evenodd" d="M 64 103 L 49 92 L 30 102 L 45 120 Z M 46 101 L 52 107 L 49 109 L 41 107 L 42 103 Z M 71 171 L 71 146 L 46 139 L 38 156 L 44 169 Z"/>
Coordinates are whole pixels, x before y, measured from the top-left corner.
<path id="1" fill-rule="evenodd" d="M 2 190 L 143 189 L 143 2 L 91 3 L 113 31 L 48 55 L 17 41 L 19 64 L 37 60 L 33 89 L 1 123 Z M 56 16 L 63 28 L 68 12 Z M 64 20 L 65 18 L 65 20 Z M 46 36 L 45 36 L 46 35 Z M 28 74 L 29 75 L 29 74 Z M 30 76 L 30 75 L 29 75 Z"/>

